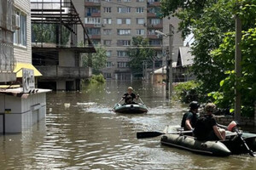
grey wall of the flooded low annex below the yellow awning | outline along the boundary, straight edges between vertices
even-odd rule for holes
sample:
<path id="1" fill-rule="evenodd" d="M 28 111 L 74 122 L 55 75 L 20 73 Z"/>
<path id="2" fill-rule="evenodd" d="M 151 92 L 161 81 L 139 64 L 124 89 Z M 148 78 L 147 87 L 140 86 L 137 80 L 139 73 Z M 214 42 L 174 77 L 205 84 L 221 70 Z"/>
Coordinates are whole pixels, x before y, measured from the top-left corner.
<path id="1" fill-rule="evenodd" d="M 0 94 L 0 113 L 5 109 L 5 133 L 21 133 L 43 119 L 46 114 L 46 94 L 32 94 L 26 99 Z M 3 133 L 3 115 L 0 115 L 0 133 Z"/>

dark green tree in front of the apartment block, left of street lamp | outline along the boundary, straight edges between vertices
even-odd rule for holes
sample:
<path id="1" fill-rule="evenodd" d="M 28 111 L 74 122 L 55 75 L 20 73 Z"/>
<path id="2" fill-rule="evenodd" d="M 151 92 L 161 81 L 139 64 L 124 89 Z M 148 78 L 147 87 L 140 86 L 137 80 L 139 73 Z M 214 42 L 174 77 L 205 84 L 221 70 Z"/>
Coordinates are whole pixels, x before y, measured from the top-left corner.
<path id="1" fill-rule="evenodd" d="M 132 37 L 131 44 L 128 48 L 129 66 L 135 77 L 143 77 L 143 62 L 152 63 L 154 49 L 149 46 L 148 38 Z"/>

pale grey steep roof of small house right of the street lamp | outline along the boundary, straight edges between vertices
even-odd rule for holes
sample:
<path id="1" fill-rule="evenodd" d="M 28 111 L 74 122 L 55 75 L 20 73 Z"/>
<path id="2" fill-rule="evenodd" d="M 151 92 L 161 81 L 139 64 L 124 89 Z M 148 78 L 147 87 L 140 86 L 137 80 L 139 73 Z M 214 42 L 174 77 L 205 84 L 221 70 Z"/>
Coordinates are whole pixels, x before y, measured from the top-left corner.
<path id="1" fill-rule="evenodd" d="M 193 65 L 195 56 L 191 54 L 191 48 L 180 47 L 177 54 L 177 66 Z"/>

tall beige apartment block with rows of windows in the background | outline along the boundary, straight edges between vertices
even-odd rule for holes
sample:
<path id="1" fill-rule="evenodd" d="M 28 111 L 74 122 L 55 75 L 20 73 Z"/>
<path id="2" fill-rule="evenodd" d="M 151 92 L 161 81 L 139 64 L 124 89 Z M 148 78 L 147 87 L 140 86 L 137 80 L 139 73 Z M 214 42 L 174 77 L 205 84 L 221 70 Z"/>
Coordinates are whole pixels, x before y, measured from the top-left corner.
<path id="1" fill-rule="evenodd" d="M 127 55 L 132 37 L 148 37 L 150 46 L 156 51 L 155 60 L 145 63 L 147 71 L 163 65 L 162 51 L 169 46 L 168 37 L 157 35 L 155 31 L 169 34 L 172 23 L 175 28 L 173 56 L 177 54 L 176 47 L 183 46 L 181 34 L 177 33 L 178 20 L 160 18 L 160 0 L 84 0 L 76 1 L 75 6 L 79 8 L 80 17 L 84 16 L 91 41 L 108 50 L 108 62 L 102 69 L 107 79 L 132 79 Z"/>

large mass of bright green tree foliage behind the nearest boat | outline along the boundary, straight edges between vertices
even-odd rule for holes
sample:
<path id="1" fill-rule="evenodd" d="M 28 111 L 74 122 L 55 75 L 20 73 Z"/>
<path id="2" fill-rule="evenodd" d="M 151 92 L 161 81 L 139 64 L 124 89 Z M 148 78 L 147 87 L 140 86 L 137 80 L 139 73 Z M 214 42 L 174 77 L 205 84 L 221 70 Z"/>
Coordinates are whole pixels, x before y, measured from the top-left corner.
<path id="1" fill-rule="evenodd" d="M 161 9 L 165 16 L 174 14 L 181 20 L 179 30 L 183 31 L 183 37 L 194 34 L 192 69 L 201 82 L 197 93 L 208 94 L 201 97 L 234 111 L 236 88 L 242 94 L 242 114 L 252 116 L 256 93 L 256 0 L 163 0 Z M 236 14 L 241 18 L 243 30 L 239 79 L 234 71 Z"/>

